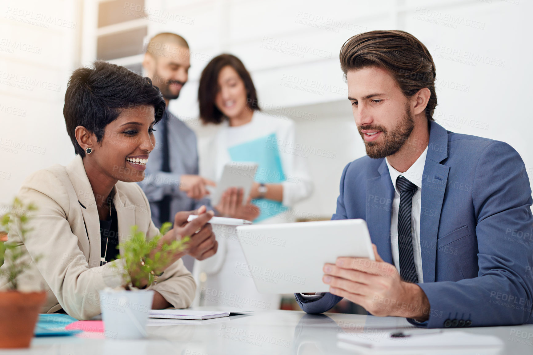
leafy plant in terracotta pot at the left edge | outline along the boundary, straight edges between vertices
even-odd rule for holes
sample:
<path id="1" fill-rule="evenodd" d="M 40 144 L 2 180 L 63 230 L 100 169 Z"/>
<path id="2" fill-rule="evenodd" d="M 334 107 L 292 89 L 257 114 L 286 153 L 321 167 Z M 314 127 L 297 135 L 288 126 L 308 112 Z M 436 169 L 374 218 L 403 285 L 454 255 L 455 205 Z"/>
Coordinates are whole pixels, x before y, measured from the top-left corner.
<path id="1" fill-rule="evenodd" d="M 0 219 L 0 348 L 28 348 L 34 335 L 39 310 L 46 299 L 45 292 L 22 292 L 17 278 L 27 268 L 28 251 L 20 243 L 7 240 L 10 230 L 17 230 L 22 242 L 27 239 L 27 223 L 33 204 L 23 205 L 15 198 L 9 211 Z M 5 258 L 5 260 L 4 260 Z M 37 262 L 37 260 L 34 260 Z"/>

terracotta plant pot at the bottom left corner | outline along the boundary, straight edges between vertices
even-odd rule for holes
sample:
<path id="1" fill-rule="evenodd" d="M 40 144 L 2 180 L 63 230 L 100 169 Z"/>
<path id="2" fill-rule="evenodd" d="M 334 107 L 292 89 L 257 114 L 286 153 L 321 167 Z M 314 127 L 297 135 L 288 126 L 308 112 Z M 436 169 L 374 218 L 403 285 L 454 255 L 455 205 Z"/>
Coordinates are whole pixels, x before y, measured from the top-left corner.
<path id="1" fill-rule="evenodd" d="M 0 349 L 28 348 L 45 292 L 0 292 Z"/>

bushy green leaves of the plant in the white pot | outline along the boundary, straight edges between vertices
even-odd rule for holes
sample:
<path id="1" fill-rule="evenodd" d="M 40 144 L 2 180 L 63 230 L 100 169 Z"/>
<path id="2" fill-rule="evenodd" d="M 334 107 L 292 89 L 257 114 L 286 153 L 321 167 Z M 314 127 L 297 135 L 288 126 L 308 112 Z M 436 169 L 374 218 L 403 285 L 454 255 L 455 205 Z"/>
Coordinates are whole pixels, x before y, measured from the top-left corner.
<path id="1" fill-rule="evenodd" d="M 148 286 L 154 284 L 156 272 L 162 271 L 172 260 L 173 255 L 185 248 L 185 243 L 190 240 L 189 236 L 174 240 L 170 244 L 161 243 L 161 238 L 171 227 L 172 223 L 163 223 L 158 235 L 150 240 L 146 239 L 144 232 L 139 231 L 137 225 L 131 227 L 130 238 L 122 241 L 117 247 L 123 249 L 123 255 L 119 259 L 124 260 L 122 279 L 126 289 L 140 288 L 143 276 L 146 276 Z M 152 255 L 155 248 L 158 248 L 158 251 Z M 132 275 L 135 277 L 132 278 Z"/>

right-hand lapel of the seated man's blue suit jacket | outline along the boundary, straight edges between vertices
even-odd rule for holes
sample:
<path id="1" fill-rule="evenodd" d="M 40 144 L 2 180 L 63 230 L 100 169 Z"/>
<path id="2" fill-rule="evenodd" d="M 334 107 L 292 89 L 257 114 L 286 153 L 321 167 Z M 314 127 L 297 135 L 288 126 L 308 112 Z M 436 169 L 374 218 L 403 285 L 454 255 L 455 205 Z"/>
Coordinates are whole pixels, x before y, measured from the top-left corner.
<path id="1" fill-rule="evenodd" d="M 422 175 L 420 216 L 420 246 L 425 283 L 435 281 L 440 214 L 450 170 L 449 166 L 439 163 L 447 157 L 448 133 L 439 124 L 431 122 L 430 142 Z"/>

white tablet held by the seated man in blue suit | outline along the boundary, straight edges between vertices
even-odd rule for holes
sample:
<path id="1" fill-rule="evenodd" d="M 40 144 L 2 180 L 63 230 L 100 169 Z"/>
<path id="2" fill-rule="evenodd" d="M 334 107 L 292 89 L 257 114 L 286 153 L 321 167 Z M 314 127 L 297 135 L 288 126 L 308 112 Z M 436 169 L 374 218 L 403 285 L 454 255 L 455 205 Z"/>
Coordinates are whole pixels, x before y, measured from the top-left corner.
<path id="1" fill-rule="evenodd" d="M 239 225 L 246 264 L 235 273 L 252 277 L 260 293 L 328 292 L 325 263 L 339 256 L 374 259 L 364 220 Z"/>

